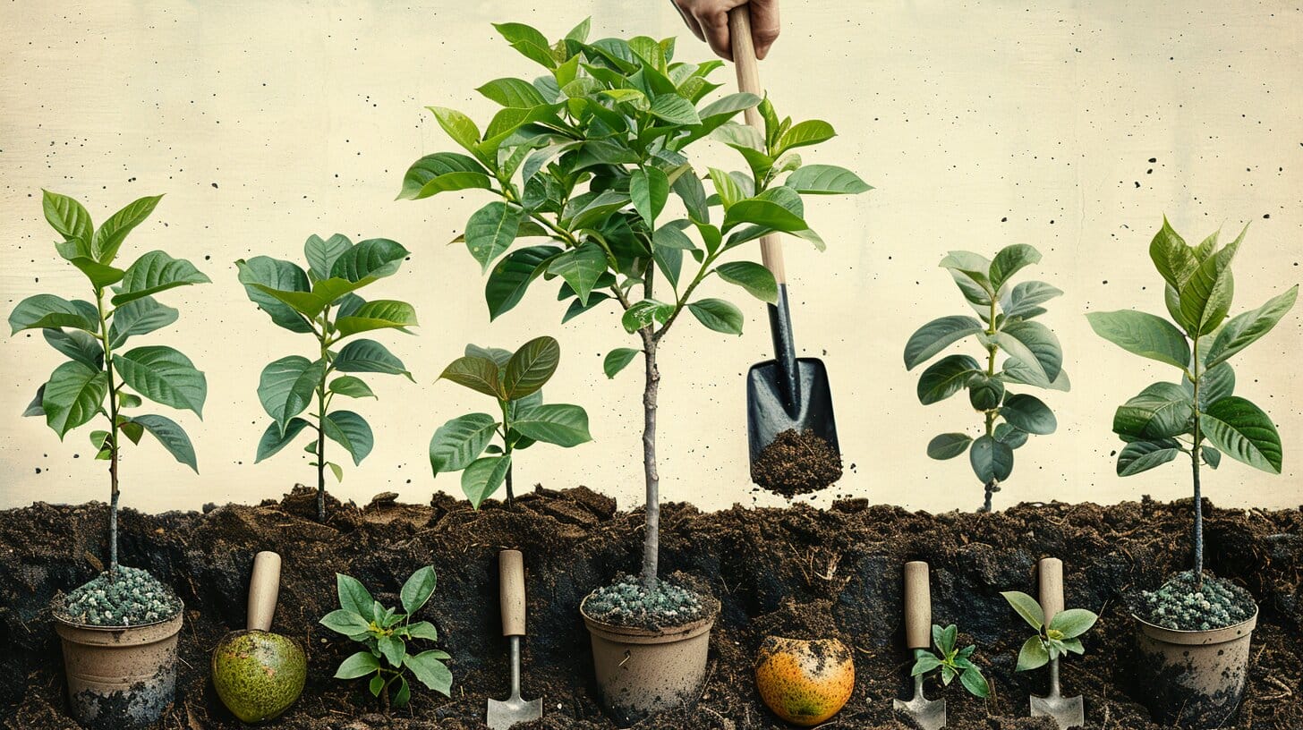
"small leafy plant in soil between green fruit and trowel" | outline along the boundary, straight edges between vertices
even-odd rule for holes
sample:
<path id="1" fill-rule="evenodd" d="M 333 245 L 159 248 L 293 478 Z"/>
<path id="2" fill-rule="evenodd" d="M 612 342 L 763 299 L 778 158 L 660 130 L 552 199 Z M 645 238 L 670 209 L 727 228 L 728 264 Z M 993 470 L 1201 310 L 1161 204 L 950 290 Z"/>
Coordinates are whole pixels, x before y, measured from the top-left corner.
<path id="1" fill-rule="evenodd" d="M 443 696 L 451 696 L 452 673 L 444 662 L 452 657 L 438 649 L 426 649 L 418 654 L 408 653 L 409 641 L 439 640 L 439 632 L 433 623 L 412 620 L 434 594 L 434 567 L 426 566 L 416 571 L 403 584 L 399 592 L 401 611 L 384 607 L 354 577 L 335 574 L 335 584 L 340 607 L 326 614 L 321 623 L 366 647 L 339 665 L 339 670 L 335 671 L 336 679 L 370 677 L 367 690 L 371 696 L 380 699 L 384 709 L 404 707 L 412 699 L 412 687 L 407 680 L 408 671 L 417 682 Z"/>

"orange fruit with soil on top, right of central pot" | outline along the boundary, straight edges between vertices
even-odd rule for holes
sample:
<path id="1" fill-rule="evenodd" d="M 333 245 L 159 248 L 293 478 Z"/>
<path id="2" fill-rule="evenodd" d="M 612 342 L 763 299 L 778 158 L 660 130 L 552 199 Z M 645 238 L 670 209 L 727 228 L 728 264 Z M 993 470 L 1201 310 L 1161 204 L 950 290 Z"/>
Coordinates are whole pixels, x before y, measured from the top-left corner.
<path id="1" fill-rule="evenodd" d="M 855 662 L 837 639 L 766 636 L 756 661 L 756 686 L 778 717 L 795 725 L 818 725 L 851 699 Z"/>

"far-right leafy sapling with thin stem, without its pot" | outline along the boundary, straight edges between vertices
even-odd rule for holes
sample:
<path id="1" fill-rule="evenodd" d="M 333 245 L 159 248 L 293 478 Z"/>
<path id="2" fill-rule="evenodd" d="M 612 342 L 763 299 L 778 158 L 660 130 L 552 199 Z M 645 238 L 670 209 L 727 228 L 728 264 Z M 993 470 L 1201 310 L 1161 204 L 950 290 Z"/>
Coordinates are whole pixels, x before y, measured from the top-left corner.
<path id="1" fill-rule="evenodd" d="M 1165 282 L 1164 302 L 1171 322 L 1132 309 L 1087 314 L 1101 338 L 1170 365 L 1182 375 L 1179 383 L 1153 383 L 1118 407 L 1113 431 L 1126 442 L 1118 454 L 1119 476 L 1145 472 L 1182 454 L 1190 456 L 1196 587 L 1203 585 L 1204 572 L 1200 465 L 1216 469 L 1222 454 L 1229 454 L 1250 467 L 1281 473 L 1276 424 L 1252 402 L 1234 395 L 1230 358 L 1276 327 L 1294 306 L 1298 284 L 1257 309 L 1226 318 L 1235 291 L 1231 261 L 1247 232 L 1246 226 L 1225 246 L 1218 245 L 1216 232 L 1191 246 L 1164 218 L 1149 242 L 1149 258 Z"/>

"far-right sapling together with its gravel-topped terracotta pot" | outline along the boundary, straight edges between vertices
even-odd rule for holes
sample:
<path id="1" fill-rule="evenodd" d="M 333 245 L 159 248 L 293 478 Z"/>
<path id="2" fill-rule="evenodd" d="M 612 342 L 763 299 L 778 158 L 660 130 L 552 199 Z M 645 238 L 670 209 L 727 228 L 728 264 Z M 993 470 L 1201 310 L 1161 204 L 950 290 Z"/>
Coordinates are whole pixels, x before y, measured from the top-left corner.
<path id="1" fill-rule="evenodd" d="M 1213 233 L 1192 246 L 1164 219 L 1149 258 L 1165 282 L 1171 319 L 1132 309 L 1087 314 L 1096 334 L 1181 377 L 1153 383 L 1118 407 L 1113 431 L 1124 442 L 1119 476 L 1190 460 L 1194 567 L 1141 593 L 1134 606 L 1151 709 L 1161 722 L 1184 727 L 1221 727 L 1235 713 L 1257 620 L 1246 589 L 1204 571 L 1200 471 L 1216 469 L 1229 455 L 1281 473 L 1281 437 L 1261 408 L 1235 395 L 1230 358 L 1276 327 L 1294 306 L 1298 285 L 1227 318 L 1235 288 L 1231 262 L 1247 231 L 1226 245 Z"/>

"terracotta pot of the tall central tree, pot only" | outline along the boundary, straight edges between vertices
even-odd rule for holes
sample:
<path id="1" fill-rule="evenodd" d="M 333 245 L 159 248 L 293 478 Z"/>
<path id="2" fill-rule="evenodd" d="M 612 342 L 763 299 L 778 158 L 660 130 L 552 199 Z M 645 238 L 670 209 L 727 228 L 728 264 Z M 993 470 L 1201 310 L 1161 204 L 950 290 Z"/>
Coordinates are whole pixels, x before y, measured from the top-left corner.
<path id="1" fill-rule="evenodd" d="M 719 614 L 719 602 L 710 602 L 709 617 L 661 630 L 605 623 L 580 604 L 593 640 L 597 688 L 616 722 L 637 722 L 697 701 L 706 679 L 710 628 Z"/>

